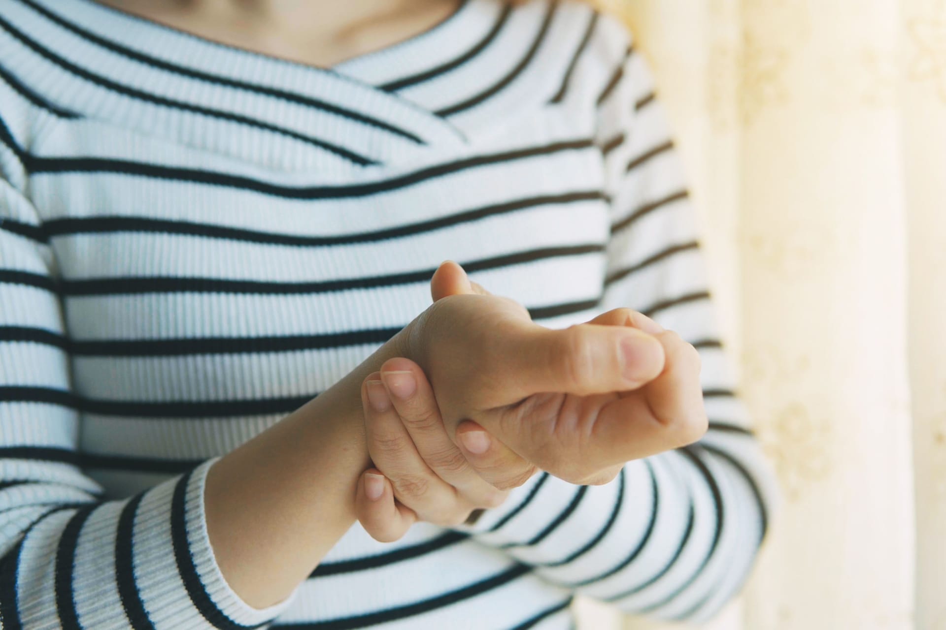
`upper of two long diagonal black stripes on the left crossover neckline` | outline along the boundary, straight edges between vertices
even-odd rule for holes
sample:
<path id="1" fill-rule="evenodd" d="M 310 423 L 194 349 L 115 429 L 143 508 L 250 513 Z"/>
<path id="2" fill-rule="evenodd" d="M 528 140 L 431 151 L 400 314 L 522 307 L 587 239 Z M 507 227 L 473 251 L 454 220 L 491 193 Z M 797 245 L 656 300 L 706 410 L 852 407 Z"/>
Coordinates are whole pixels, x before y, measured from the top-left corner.
<path id="1" fill-rule="evenodd" d="M 291 103 L 298 103 L 300 105 L 305 105 L 307 107 L 315 108 L 317 110 L 322 110 L 322 111 L 327 111 L 329 113 L 338 114 L 339 116 L 348 118 L 349 120 L 354 120 L 359 123 L 368 125 L 370 127 L 384 129 L 386 131 L 390 131 L 403 138 L 412 140 L 415 143 L 423 144 L 421 139 L 418 138 L 416 135 L 412 134 L 410 131 L 407 131 L 402 128 L 396 128 L 393 125 L 383 120 L 379 120 L 377 118 L 367 116 L 357 111 L 350 111 L 350 110 L 342 109 L 341 107 L 337 105 L 326 103 L 322 100 L 312 98 L 311 96 L 305 96 L 303 94 L 295 94 L 292 92 L 285 92 L 283 90 L 278 90 L 276 88 L 272 88 L 272 87 L 268 87 L 264 85 L 255 85 L 253 83 L 245 83 L 243 81 L 237 81 L 235 79 L 228 78 L 228 77 L 219 77 L 216 75 L 210 75 L 208 73 L 204 73 L 199 70 L 195 70 L 193 68 L 187 68 L 185 66 L 170 63 L 166 60 L 150 57 L 149 55 L 145 55 L 136 50 L 132 50 L 131 48 L 126 48 L 125 46 L 122 46 L 119 43 L 115 43 L 115 42 L 112 42 L 111 40 L 106 40 L 104 38 L 98 37 L 94 33 L 91 33 L 79 26 L 76 26 L 70 22 L 65 21 L 64 19 L 61 18 L 61 16 L 56 15 L 55 13 L 52 13 L 51 11 L 44 9 L 40 5 L 33 2 L 32 0 L 20 0 L 20 1 L 28 5 L 31 9 L 37 11 L 38 13 L 42 13 L 47 19 L 51 20 L 52 22 L 55 22 L 56 24 L 62 26 L 63 28 L 71 30 L 73 33 L 76 33 L 77 35 L 79 35 L 79 37 L 85 40 L 88 40 L 90 42 L 94 42 L 102 46 L 103 48 L 107 48 L 115 53 L 118 53 L 119 55 L 122 55 L 123 57 L 140 61 L 142 63 L 146 63 L 150 66 L 153 66 L 155 68 L 160 68 L 168 72 L 172 72 L 178 75 L 183 75 L 184 77 L 196 78 L 208 83 L 224 85 L 227 87 L 236 88 L 238 90 L 245 90 L 247 92 L 254 92 L 257 94 L 266 94 L 269 96 L 275 96 L 276 98 L 287 100 Z"/>

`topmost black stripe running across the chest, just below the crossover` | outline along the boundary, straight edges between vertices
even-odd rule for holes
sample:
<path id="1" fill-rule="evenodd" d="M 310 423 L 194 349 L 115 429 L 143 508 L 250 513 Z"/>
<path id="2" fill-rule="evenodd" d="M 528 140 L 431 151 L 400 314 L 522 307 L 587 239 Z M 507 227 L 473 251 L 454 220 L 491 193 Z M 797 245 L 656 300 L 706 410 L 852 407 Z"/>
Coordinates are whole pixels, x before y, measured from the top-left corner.
<path id="1" fill-rule="evenodd" d="M 469 168 L 515 162 L 537 156 L 546 156 L 564 151 L 584 150 L 592 147 L 593 144 L 591 140 L 588 139 L 556 142 L 551 145 L 533 146 L 512 151 L 503 151 L 501 153 L 464 158 L 456 162 L 436 164 L 412 173 L 397 176 L 393 179 L 329 186 L 282 186 L 268 181 L 250 179 L 230 175 L 228 173 L 204 171 L 195 168 L 161 166 L 147 162 L 130 162 L 125 160 L 44 158 L 31 155 L 24 155 L 22 159 L 26 163 L 27 169 L 34 174 L 114 173 L 120 175 L 137 175 L 153 179 L 172 179 L 175 181 L 190 181 L 215 186 L 227 186 L 241 190 L 251 190 L 264 195 L 291 199 L 347 199 L 387 193 L 412 186 L 427 179 L 443 177 Z"/>

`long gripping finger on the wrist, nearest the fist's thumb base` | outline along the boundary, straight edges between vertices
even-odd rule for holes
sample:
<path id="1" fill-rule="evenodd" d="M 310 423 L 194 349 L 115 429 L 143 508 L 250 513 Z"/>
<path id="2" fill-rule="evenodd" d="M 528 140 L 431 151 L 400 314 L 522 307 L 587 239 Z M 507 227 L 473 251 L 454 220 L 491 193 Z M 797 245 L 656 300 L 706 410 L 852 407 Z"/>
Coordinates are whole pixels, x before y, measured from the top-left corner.
<path id="1" fill-rule="evenodd" d="M 424 370 L 409 359 L 396 358 L 385 362 L 380 374 L 397 415 L 427 466 L 474 506 L 499 505 L 502 493 L 477 474 L 450 439 Z M 526 466 L 524 461 L 521 465 Z"/>

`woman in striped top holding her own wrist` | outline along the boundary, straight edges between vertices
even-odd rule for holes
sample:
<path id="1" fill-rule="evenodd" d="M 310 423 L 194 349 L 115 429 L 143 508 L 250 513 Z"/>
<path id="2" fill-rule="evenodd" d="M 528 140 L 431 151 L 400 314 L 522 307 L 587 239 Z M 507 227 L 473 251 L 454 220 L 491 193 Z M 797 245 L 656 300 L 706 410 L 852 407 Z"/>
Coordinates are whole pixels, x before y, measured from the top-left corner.
<path id="1" fill-rule="evenodd" d="M 738 590 L 771 481 L 616 21 L 9 0 L 0 31 L 3 627 L 556 628 L 575 593 L 701 620 Z M 429 285 L 448 258 L 507 298 Z"/>

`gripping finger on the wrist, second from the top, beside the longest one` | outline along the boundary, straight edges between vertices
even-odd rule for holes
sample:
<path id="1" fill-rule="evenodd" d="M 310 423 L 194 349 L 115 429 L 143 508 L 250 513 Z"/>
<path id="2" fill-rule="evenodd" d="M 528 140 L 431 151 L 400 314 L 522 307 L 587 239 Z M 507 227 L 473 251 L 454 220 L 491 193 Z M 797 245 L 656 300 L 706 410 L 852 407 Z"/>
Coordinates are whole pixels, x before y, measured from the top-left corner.
<path id="1" fill-rule="evenodd" d="M 456 524 L 466 506 L 456 489 L 424 462 L 379 376 L 378 372 L 370 375 L 362 387 L 365 434 L 372 461 L 391 481 L 394 497 L 416 512 L 419 519 L 442 526 Z"/>

